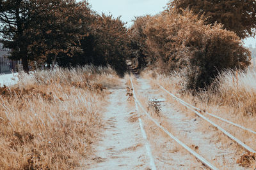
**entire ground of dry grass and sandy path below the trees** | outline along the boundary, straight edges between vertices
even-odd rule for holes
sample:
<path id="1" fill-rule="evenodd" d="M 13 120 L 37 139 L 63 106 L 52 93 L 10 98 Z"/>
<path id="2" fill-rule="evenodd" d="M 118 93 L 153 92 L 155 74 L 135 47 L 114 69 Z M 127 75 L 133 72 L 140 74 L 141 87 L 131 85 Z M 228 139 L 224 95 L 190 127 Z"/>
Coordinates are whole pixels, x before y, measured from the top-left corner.
<path id="1" fill-rule="evenodd" d="M 199 108 L 253 150 L 255 134 L 206 115 L 255 131 L 256 71 L 252 69 L 227 70 L 197 94 L 184 89 L 180 73 L 164 75 L 150 69 L 120 78 L 109 67 L 84 66 L 19 73 L 16 78 L 15 85 L 0 87 L 1 169 L 256 166 L 254 152 L 159 87 Z M 196 159 L 180 143 L 208 162 Z"/>

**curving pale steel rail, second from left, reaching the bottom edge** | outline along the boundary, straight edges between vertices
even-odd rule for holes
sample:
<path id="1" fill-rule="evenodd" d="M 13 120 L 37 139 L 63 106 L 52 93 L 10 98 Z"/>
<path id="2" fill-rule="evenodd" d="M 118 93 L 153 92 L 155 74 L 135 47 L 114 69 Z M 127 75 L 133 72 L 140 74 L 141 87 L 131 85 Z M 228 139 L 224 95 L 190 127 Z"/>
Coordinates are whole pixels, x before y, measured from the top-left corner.
<path id="1" fill-rule="evenodd" d="M 150 120 L 152 120 L 152 122 L 154 122 L 154 124 L 157 125 L 157 127 L 159 127 L 160 129 L 162 129 L 166 134 L 168 134 L 168 136 L 170 136 L 170 138 L 174 139 L 177 143 L 179 143 L 179 145 L 181 145 L 183 148 L 185 148 L 186 150 L 188 150 L 189 153 L 191 153 L 192 155 L 194 155 L 198 160 L 200 160 L 205 166 L 209 167 L 210 169 L 218 169 L 217 167 L 213 166 L 210 162 L 208 162 L 206 159 L 204 159 L 204 157 L 200 156 L 198 153 L 196 153 L 194 150 L 192 150 L 191 148 L 189 148 L 189 146 L 187 146 L 186 144 L 182 143 L 182 141 L 180 141 L 178 138 L 176 138 L 175 136 L 173 136 L 173 134 L 171 134 L 169 131 L 167 131 L 162 125 L 160 125 L 156 120 L 154 120 L 154 118 L 152 118 L 150 116 L 150 114 L 143 108 L 143 106 L 141 105 L 140 101 L 137 99 L 136 94 L 135 94 L 135 90 L 134 90 L 134 85 L 132 83 L 132 78 L 130 77 L 130 81 L 131 81 L 131 85 L 132 85 L 132 91 L 133 91 L 133 97 L 135 99 L 135 102 L 138 103 L 138 106 L 140 106 L 141 110 L 143 110 L 145 112 L 145 114 L 148 116 L 148 118 Z"/>

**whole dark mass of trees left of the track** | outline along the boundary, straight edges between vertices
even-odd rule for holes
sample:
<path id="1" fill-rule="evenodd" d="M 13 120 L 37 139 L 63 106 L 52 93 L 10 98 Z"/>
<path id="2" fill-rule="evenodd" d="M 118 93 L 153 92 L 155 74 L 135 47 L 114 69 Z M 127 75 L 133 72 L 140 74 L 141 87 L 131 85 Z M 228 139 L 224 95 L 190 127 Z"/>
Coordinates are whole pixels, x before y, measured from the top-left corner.
<path id="1" fill-rule="evenodd" d="M 124 74 L 127 29 L 120 18 L 98 15 L 86 1 L 0 1 L 0 32 L 10 40 L 11 59 L 29 64 L 61 67 L 111 65 Z"/>

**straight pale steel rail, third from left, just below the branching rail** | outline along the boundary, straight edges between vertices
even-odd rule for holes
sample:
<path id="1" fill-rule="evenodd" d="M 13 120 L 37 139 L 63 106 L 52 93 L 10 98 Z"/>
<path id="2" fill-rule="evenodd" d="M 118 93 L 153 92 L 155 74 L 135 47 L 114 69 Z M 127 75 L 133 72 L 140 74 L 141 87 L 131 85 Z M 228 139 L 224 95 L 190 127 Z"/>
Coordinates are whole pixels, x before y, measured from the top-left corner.
<path id="1" fill-rule="evenodd" d="M 161 87 L 159 85 L 159 87 Z M 195 106 L 189 106 L 190 104 L 186 103 L 185 101 L 182 101 L 182 99 L 179 99 L 178 97 L 176 97 L 174 94 L 168 92 L 168 90 L 164 89 L 163 87 L 161 87 L 164 91 L 166 91 L 168 94 L 170 94 L 173 98 L 177 99 L 177 101 L 179 101 L 182 105 L 186 106 L 189 110 L 193 111 L 194 113 L 196 113 L 196 115 L 198 115 L 199 117 L 203 118 L 204 120 L 206 120 L 207 122 L 209 122 L 210 124 L 214 125 L 214 127 L 216 127 L 217 129 L 219 129 L 220 131 L 222 131 L 225 135 L 227 135 L 230 139 L 232 139 L 233 141 L 236 141 L 236 143 L 238 143 L 240 146 L 243 146 L 243 148 L 245 148 L 246 150 L 248 150 L 249 152 L 252 153 L 256 153 L 255 150 L 253 150 L 252 148 L 250 148 L 250 146 L 245 145 L 242 141 L 240 141 L 239 139 L 237 139 L 236 137 L 234 137 L 232 134 L 230 134 L 229 132 L 225 131 L 225 129 L 223 129 L 222 127 L 220 127 L 219 125 L 215 124 L 214 122 L 212 122 L 211 120 L 209 120 L 209 118 L 204 117 L 204 115 L 202 115 L 201 113 L 199 113 L 198 111 L 195 111 Z"/>

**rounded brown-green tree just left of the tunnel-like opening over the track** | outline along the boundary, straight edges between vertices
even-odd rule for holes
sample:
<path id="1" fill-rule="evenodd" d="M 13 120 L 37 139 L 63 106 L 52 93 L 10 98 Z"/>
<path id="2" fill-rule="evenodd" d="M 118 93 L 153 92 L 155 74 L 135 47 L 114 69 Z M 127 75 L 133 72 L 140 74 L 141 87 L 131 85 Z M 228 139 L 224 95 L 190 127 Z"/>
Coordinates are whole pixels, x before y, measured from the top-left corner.
<path id="1" fill-rule="evenodd" d="M 127 45 L 129 39 L 125 23 L 120 17 L 112 15 L 97 15 L 93 24 L 93 56 L 90 59 L 96 66 L 112 66 L 120 76 L 123 76 L 127 66 L 125 59 L 129 55 Z M 83 46 L 86 49 L 86 46 Z"/>

